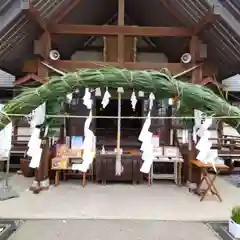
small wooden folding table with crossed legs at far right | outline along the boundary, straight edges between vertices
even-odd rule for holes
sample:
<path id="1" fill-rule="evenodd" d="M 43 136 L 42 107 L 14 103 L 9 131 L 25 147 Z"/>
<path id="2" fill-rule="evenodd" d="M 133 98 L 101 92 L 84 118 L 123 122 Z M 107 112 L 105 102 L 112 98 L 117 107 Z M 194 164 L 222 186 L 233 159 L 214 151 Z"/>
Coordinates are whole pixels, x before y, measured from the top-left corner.
<path id="1" fill-rule="evenodd" d="M 200 181 L 200 184 L 199 186 L 197 187 L 197 191 L 198 193 L 200 193 L 200 190 L 201 190 L 201 187 L 204 183 L 204 181 L 207 183 L 207 189 L 204 189 L 203 190 L 203 194 L 200 198 L 200 201 L 203 201 L 204 198 L 207 196 L 208 192 L 211 191 L 211 193 L 213 195 L 216 195 L 216 197 L 219 199 L 220 202 L 222 202 L 222 198 L 214 184 L 216 178 L 217 178 L 217 175 L 218 173 L 223 170 L 223 169 L 228 169 L 228 166 L 226 166 L 225 164 L 215 164 L 215 167 L 216 167 L 216 172 L 214 174 L 214 177 L 212 178 L 210 176 L 210 174 L 208 173 L 208 169 L 213 169 L 213 166 L 212 164 L 205 164 L 205 163 L 202 163 L 200 162 L 199 160 L 192 160 L 191 161 L 191 164 L 197 168 L 199 168 L 201 170 L 201 181 Z"/>

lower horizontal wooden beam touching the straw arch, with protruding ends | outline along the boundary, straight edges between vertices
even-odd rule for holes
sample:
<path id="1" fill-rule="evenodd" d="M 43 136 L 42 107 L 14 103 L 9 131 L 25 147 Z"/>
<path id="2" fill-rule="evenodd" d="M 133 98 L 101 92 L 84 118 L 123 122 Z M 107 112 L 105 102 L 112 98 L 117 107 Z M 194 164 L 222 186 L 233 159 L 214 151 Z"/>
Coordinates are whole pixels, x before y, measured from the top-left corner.
<path id="1" fill-rule="evenodd" d="M 153 62 L 100 62 L 100 61 L 71 61 L 71 60 L 57 60 L 49 62 L 53 67 L 61 69 L 66 72 L 74 72 L 81 68 L 103 68 L 103 67 L 119 67 L 126 68 L 130 70 L 160 70 L 161 68 L 168 68 L 172 74 L 178 74 L 190 68 L 192 65 L 183 65 L 181 63 L 153 63 Z M 28 60 L 24 63 L 23 72 L 36 73 L 37 72 L 37 61 Z M 203 75 L 212 76 L 217 74 L 217 69 L 212 64 L 204 64 L 203 66 Z M 190 73 L 191 75 L 191 73 Z"/>

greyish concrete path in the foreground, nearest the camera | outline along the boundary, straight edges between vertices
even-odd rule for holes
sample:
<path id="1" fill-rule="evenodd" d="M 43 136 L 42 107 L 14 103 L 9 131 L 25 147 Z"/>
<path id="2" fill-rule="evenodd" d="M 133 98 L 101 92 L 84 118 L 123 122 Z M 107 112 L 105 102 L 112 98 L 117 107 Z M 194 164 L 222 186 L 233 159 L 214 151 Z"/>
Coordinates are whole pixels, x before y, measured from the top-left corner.
<path id="1" fill-rule="evenodd" d="M 217 240 L 203 223 L 150 220 L 27 221 L 10 240 Z"/>

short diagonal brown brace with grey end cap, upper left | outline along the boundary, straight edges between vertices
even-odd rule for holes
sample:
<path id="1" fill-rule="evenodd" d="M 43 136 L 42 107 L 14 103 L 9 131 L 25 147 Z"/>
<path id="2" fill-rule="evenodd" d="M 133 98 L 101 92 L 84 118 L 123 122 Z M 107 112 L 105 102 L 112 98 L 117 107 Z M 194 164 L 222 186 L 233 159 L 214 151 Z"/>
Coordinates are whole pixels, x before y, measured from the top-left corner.
<path id="1" fill-rule="evenodd" d="M 33 6 L 31 0 L 25 1 L 22 4 L 22 9 L 24 12 L 29 16 L 31 20 L 33 20 L 37 25 L 44 30 L 45 32 L 48 31 L 48 24 L 45 19 L 41 16 L 40 12 Z"/>

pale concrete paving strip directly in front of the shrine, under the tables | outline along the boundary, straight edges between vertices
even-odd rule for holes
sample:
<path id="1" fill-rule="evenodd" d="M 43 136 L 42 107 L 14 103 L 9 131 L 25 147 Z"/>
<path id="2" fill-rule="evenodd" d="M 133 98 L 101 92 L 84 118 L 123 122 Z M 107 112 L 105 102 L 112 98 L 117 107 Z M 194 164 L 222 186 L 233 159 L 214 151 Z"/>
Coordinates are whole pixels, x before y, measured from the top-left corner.
<path id="1" fill-rule="evenodd" d="M 10 185 L 19 198 L 0 202 L 0 217 L 12 219 L 135 219 L 174 221 L 228 220 L 231 208 L 239 204 L 240 190 L 218 178 L 223 198 L 200 202 L 186 187 L 172 182 L 146 184 L 61 182 L 58 187 L 34 195 L 28 191 L 32 179 L 14 175 Z"/>

